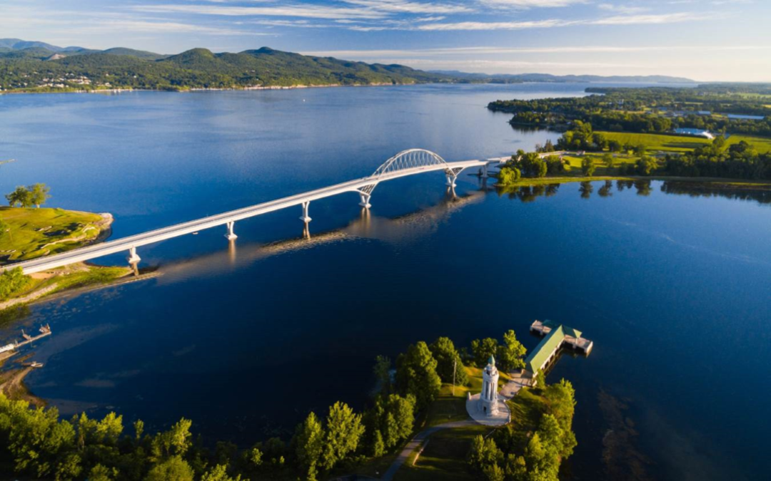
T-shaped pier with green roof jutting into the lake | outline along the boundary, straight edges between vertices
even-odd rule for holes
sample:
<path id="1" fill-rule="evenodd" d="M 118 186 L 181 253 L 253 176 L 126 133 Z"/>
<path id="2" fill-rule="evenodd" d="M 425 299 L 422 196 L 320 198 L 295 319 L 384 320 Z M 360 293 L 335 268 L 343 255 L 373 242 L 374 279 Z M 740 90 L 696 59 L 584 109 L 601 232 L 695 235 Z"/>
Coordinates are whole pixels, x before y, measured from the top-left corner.
<path id="1" fill-rule="evenodd" d="M 525 369 L 533 374 L 533 378 L 554 361 L 563 346 L 579 351 L 584 356 L 588 356 L 594 347 L 594 342 L 582 337 L 581 331 L 549 320 L 534 321 L 530 325 L 530 332 L 544 336 L 544 339 L 525 359 Z"/>

